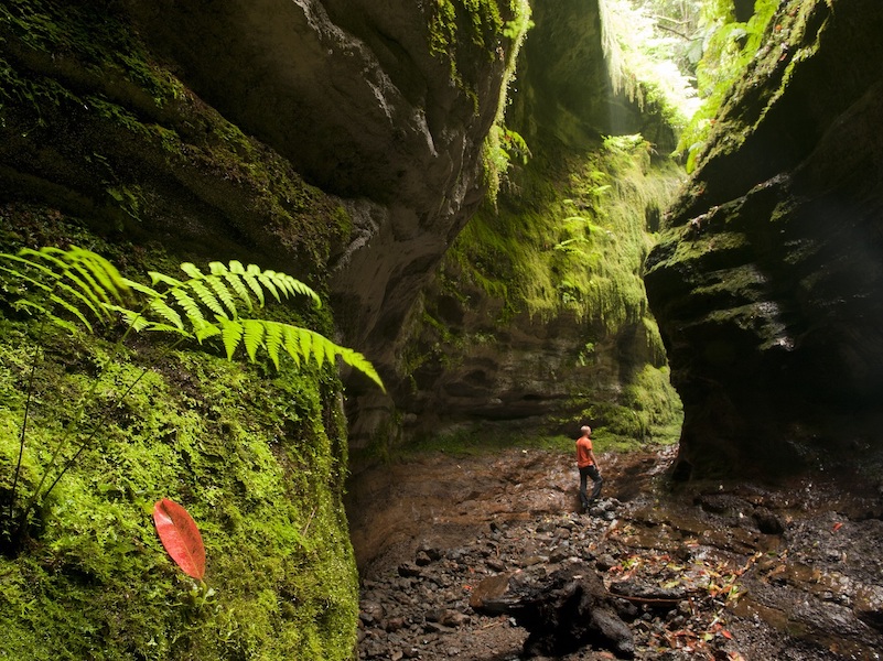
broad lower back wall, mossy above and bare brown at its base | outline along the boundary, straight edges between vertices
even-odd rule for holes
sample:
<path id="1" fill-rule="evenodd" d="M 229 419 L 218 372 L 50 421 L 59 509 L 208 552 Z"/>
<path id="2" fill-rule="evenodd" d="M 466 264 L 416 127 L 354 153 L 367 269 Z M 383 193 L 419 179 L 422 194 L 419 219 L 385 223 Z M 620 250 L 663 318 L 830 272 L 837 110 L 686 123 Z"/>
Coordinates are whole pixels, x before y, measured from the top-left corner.
<path id="1" fill-rule="evenodd" d="M 535 148 L 457 237 L 414 319 L 414 433 L 491 419 L 499 429 L 480 436 L 546 436 L 586 421 L 615 443 L 674 442 L 680 405 L 642 264 L 647 216 L 679 172 L 653 164 L 639 137 Z"/>

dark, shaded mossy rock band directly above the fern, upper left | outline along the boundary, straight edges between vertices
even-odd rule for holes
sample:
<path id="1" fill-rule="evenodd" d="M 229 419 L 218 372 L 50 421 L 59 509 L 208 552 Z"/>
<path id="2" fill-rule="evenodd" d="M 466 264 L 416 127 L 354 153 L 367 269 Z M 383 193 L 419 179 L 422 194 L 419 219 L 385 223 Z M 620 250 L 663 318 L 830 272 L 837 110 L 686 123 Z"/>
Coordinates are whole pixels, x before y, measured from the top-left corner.
<path id="1" fill-rule="evenodd" d="M 348 236 L 346 212 L 152 61 L 110 4 L 0 8 L 0 158 L 11 165 L 0 182 L 134 235 L 182 207 L 259 224 L 299 267 L 324 266 Z"/>

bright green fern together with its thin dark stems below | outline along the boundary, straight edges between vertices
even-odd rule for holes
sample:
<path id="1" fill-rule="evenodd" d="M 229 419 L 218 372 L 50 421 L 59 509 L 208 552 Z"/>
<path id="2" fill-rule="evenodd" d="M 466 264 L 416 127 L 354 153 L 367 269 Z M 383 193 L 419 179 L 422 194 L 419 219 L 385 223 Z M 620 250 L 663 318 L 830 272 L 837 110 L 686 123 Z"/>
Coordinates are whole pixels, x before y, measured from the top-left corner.
<path id="1" fill-rule="evenodd" d="M 334 362 L 340 357 L 380 388 L 384 387 L 380 377 L 362 354 L 342 347 L 309 328 L 252 316 L 265 307 L 268 299 L 281 302 L 282 299 L 304 295 L 316 306 L 320 305 L 319 295 L 301 281 L 286 273 L 262 270 L 255 264 L 245 267 L 238 261 L 230 261 L 229 264 L 212 262 L 207 273 L 190 262 L 181 264 L 181 269 L 187 279 L 179 280 L 151 271 L 151 285 L 146 285 L 123 278 L 101 256 L 75 246 L 67 250 L 43 248 L 23 249 L 15 254 L 0 253 L 0 273 L 7 275 L 10 289 L 18 290 L 21 295 L 14 303 L 17 308 L 40 315 L 44 323 L 49 322 L 69 333 L 82 329 L 95 333 L 97 326 L 121 318 L 125 330 L 114 345 L 108 361 L 114 360 L 132 333 L 154 332 L 174 337 L 170 348 L 187 340 L 202 345 L 218 338 L 228 359 L 233 359 L 243 347 L 247 358 L 254 362 L 262 350 L 277 369 L 284 355 L 298 366 L 313 362 L 317 367 L 326 361 Z M 240 308 L 245 308 L 248 316 L 240 316 Z M 21 548 L 33 513 L 76 464 L 80 454 L 94 445 L 106 422 L 106 416 L 100 418 L 93 422 L 90 431 L 80 433 L 87 404 L 96 398 L 99 381 L 95 378 L 71 422 L 55 442 L 37 485 L 24 503 L 19 505 L 28 418 L 34 394 L 33 372 L 39 354 L 39 350 L 34 353 L 31 365 L 12 487 L 7 507 L 0 508 L 0 543 L 13 552 Z M 131 392 L 150 368 L 146 367 L 138 378 L 120 389 L 117 403 Z"/>

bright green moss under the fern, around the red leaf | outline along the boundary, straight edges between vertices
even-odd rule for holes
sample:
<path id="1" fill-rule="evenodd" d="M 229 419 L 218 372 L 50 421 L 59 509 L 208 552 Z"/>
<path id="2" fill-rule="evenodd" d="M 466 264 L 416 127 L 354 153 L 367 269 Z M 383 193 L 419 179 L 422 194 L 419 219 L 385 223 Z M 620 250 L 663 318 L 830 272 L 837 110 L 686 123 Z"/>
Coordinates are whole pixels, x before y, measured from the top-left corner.
<path id="1" fill-rule="evenodd" d="M 68 238 L 101 243 L 57 216 L 14 218 L 4 241 L 66 229 Z M 219 348 L 164 355 L 142 339 L 108 362 L 108 342 L 44 337 L 0 297 L 4 512 L 39 346 L 20 494 L 35 488 L 96 379 L 86 419 L 109 418 L 58 481 L 30 543 L 0 556 L 0 655 L 349 659 L 357 576 L 341 503 L 347 454 L 336 377 L 231 364 Z M 163 497 L 184 505 L 202 530 L 211 595 L 160 544 L 150 511 Z"/>

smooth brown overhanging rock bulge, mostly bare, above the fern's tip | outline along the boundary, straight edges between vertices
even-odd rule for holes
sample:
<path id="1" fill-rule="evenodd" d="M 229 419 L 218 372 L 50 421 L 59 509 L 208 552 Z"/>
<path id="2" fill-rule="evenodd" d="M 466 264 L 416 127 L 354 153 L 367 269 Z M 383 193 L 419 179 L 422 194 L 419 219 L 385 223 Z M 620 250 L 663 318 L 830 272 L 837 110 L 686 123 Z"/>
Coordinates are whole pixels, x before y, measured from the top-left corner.
<path id="1" fill-rule="evenodd" d="M 461 10 L 459 41 L 433 52 L 449 19 L 422 2 L 146 2 L 139 17 L 203 98 L 345 198 L 354 227 L 332 256 L 333 305 L 346 342 L 383 370 L 484 195 L 482 142 L 510 41 Z"/>

